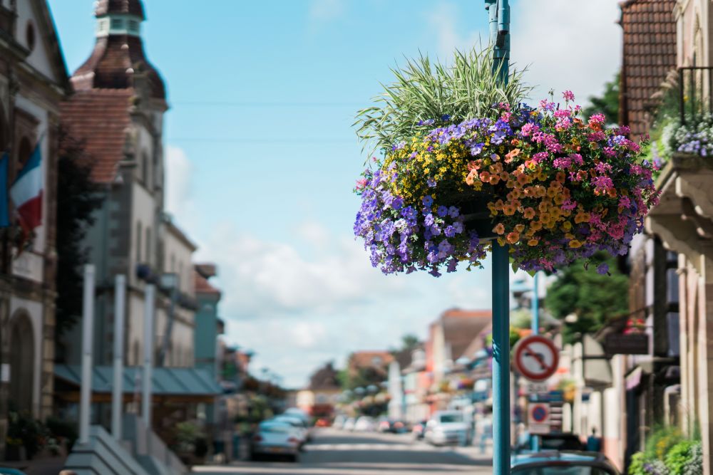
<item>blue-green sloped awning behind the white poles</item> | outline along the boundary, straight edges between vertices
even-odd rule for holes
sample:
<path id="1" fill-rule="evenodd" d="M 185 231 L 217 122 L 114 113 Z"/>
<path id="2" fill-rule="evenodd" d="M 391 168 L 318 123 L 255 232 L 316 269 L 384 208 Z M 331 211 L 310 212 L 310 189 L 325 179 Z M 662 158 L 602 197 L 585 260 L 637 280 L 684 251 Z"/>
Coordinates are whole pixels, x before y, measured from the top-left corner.
<path id="1" fill-rule="evenodd" d="M 125 396 L 140 392 L 142 373 L 142 367 L 124 367 L 123 394 Z M 55 365 L 54 375 L 77 388 L 81 385 L 79 365 Z M 111 395 L 113 381 L 113 367 L 95 366 L 92 371 L 92 393 L 95 396 Z M 154 397 L 204 400 L 222 394 L 222 388 L 212 379 L 207 370 L 193 367 L 155 367 L 151 382 Z"/>

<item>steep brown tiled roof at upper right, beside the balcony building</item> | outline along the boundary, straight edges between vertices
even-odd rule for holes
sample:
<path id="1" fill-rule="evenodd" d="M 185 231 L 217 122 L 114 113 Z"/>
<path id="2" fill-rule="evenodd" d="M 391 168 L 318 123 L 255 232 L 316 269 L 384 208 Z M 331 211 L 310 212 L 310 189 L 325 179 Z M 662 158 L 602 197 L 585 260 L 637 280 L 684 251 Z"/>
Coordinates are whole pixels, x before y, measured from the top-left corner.
<path id="1" fill-rule="evenodd" d="M 647 132 L 650 110 L 676 68 L 676 0 L 629 0 L 620 4 L 624 31 L 620 115 L 632 135 Z"/>

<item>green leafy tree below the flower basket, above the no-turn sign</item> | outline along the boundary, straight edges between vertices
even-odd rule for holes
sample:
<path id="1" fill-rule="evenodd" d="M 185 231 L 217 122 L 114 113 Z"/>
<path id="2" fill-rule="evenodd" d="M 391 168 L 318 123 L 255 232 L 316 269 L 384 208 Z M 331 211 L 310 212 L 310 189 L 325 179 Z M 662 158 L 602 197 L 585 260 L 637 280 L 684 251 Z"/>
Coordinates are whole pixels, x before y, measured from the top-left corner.
<path id="1" fill-rule="evenodd" d="M 610 276 L 595 271 L 601 263 L 608 264 Z M 578 333 L 595 333 L 608 319 L 628 313 L 628 293 L 629 278 L 617 270 L 612 257 L 597 253 L 587 267 L 575 262 L 560 271 L 558 280 L 548 289 L 545 303 L 555 318 L 577 315 L 576 323 L 563 326 L 565 342 L 572 343 Z"/>

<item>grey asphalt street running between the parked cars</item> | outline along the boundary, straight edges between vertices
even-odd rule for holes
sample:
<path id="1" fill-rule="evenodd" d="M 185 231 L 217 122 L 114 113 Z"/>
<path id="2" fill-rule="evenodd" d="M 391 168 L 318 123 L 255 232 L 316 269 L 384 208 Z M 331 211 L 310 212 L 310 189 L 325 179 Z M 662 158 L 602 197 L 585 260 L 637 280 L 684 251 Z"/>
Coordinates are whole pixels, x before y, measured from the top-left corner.
<path id="1" fill-rule="evenodd" d="M 492 474 L 491 459 L 472 447 L 431 447 L 409 434 L 351 433 L 317 429 L 296 464 L 237 462 L 195 467 L 194 473 L 222 475 L 429 475 Z"/>

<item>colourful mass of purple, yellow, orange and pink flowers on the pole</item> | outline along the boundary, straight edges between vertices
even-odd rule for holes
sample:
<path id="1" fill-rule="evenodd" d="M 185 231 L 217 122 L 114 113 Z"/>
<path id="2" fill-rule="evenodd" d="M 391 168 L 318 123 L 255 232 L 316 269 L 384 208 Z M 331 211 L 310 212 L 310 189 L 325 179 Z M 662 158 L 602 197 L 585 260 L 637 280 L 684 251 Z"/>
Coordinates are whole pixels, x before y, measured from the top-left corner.
<path id="1" fill-rule="evenodd" d="M 490 117 L 458 123 L 444 115 L 374 159 L 356 184 L 354 224 L 371 263 L 439 276 L 479 265 L 493 239 L 525 271 L 625 254 L 657 202 L 653 166 L 627 127 L 585 121 L 573 94 L 564 99 L 498 103 Z"/>

